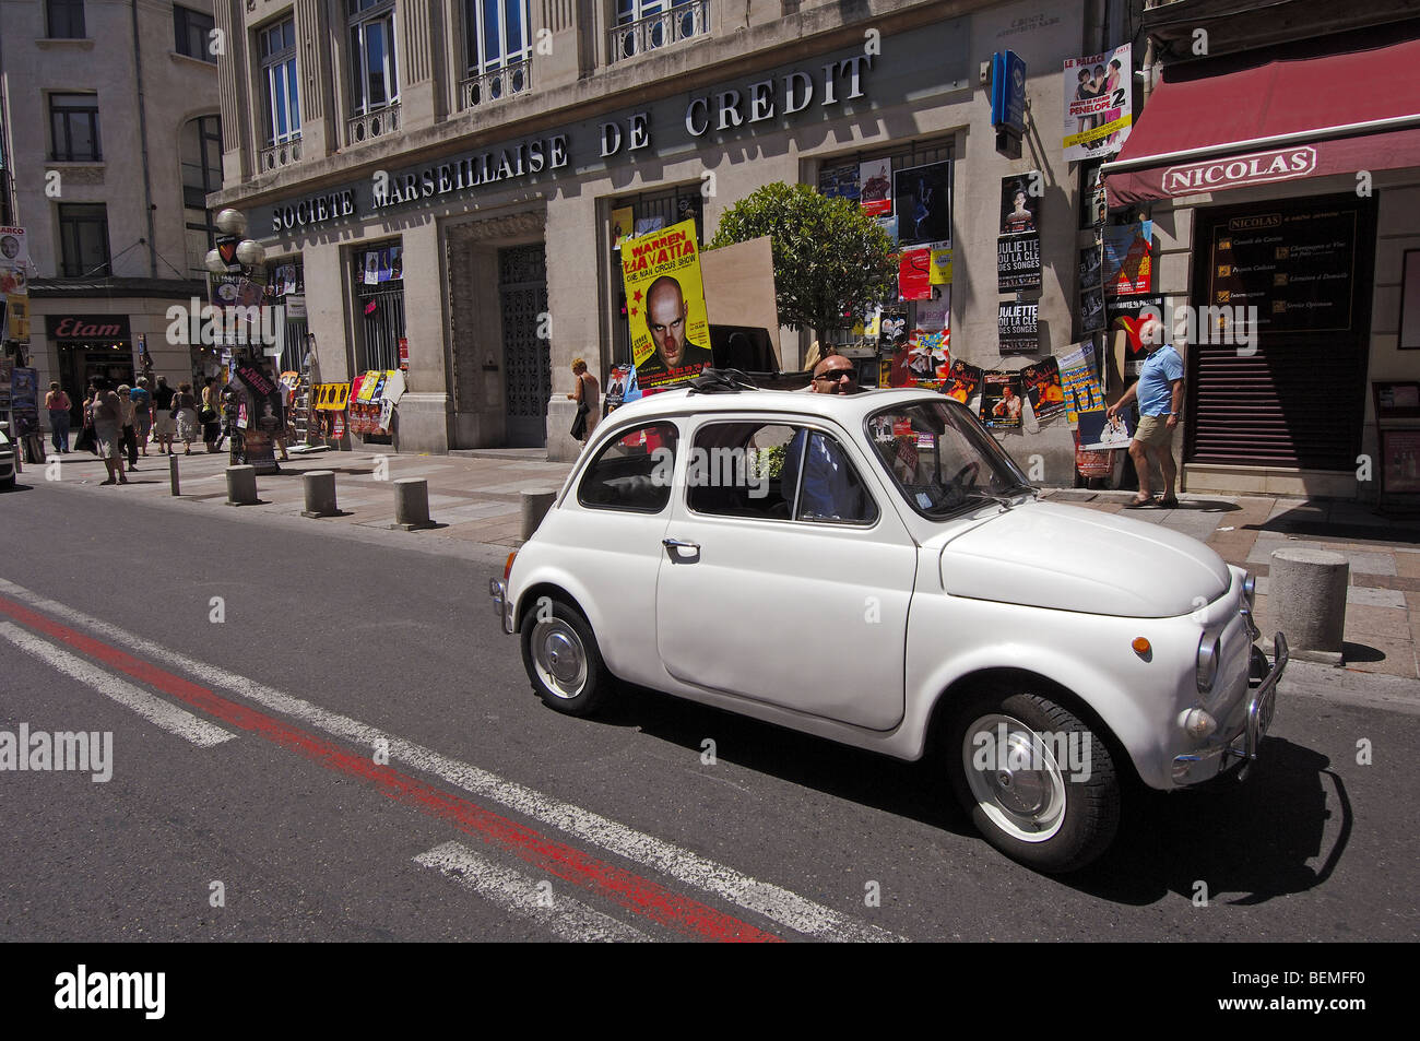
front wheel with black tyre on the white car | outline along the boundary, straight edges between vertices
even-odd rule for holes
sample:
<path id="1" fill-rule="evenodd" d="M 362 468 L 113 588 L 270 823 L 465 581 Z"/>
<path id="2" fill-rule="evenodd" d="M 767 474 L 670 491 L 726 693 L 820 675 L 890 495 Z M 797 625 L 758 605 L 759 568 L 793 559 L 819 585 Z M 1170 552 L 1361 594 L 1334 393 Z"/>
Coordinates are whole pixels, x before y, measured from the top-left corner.
<path id="1" fill-rule="evenodd" d="M 1113 757 L 1062 704 L 1030 693 L 974 699 L 957 713 L 944 753 L 973 824 L 1011 859 L 1075 871 L 1115 838 Z"/>

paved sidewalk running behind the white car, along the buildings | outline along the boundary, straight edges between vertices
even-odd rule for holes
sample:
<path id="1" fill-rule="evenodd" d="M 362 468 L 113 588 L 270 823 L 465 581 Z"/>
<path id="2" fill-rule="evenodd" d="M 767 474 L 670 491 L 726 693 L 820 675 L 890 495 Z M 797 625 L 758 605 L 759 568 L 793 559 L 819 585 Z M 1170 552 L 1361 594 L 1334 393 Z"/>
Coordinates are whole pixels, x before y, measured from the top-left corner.
<path id="1" fill-rule="evenodd" d="M 443 544 L 466 550 L 501 551 L 520 537 L 520 493 L 559 489 L 571 463 L 548 463 L 540 449 L 486 449 L 454 456 L 379 456 L 371 452 L 317 452 L 293 454 L 281 473 L 257 477 L 258 506 L 240 513 L 275 514 L 300 524 L 328 524 L 386 531 L 395 523 L 393 491 L 398 477 L 429 481 L 429 514 L 439 525 L 405 534 L 422 548 Z M 51 456 L 51 460 L 54 456 Z M 99 487 L 104 466 L 89 454 L 61 459 L 61 481 L 88 494 L 133 497 L 153 506 L 170 504 L 168 460 L 139 457 L 128 486 Z M 183 504 L 226 510 L 226 453 L 196 452 L 179 456 Z M 386 480 L 376 480 L 379 460 Z M 335 470 L 341 516 L 301 518 L 301 473 Z M 21 484 L 44 484 L 44 469 L 26 467 Z M 1044 497 L 1089 510 L 1118 513 L 1132 493 L 1056 489 Z M 1207 543 L 1223 560 L 1258 577 L 1257 622 L 1264 636 L 1274 632 L 1268 604 L 1268 564 L 1274 550 L 1291 543 L 1335 550 L 1350 561 L 1346 598 L 1345 660 L 1356 672 L 1386 673 L 1420 680 L 1420 523 L 1379 517 L 1355 503 L 1309 503 L 1275 496 L 1183 494 L 1174 510 L 1132 510 L 1129 516 L 1183 531 Z M 231 511 L 229 511 L 231 513 Z M 356 534 L 351 531 L 349 534 Z M 432 541 L 430 541 L 432 540 Z M 446 541 L 447 540 L 447 541 Z M 437 550 L 436 550 L 437 551 Z"/>

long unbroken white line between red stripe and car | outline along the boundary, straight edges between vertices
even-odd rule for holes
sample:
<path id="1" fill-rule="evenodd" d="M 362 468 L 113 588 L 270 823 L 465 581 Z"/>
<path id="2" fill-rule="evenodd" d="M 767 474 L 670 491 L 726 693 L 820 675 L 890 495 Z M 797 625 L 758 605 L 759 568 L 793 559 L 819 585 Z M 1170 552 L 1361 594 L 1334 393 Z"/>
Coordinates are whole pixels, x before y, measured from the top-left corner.
<path id="1" fill-rule="evenodd" d="M 230 690 L 274 712 L 300 719 L 352 744 L 373 747 L 378 740 L 389 741 L 390 758 L 398 758 L 405 765 L 433 774 L 464 791 L 500 802 L 525 817 L 625 856 L 628 861 L 653 868 L 679 882 L 720 896 L 805 936 L 849 943 L 903 942 L 905 939 L 886 929 L 861 922 L 851 915 L 843 915 L 832 908 L 815 903 L 790 889 L 771 882 L 760 882 L 723 863 L 717 863 L 689 849 L 682 849 L 672 842 L 628 828 L 589 810 L 582 810 L 571 802 L 564 802 L 514 781 L 507 781 L 487 770 L 480 770 L 456 758 L 442 756 L 413 741 L 392 737 L 348 716 L 328 712 L 300 697 L 293 697 L 281 690 L 250 680 L 246 676 L 239 676 L 214 665 L 187 658 L 176 650 L 169 650 L 116 625 L 47 599 L 37 592 L 26 589 L 23 585 L 16 585 L 0 578 L 0 591 L 40 611 L 68 619 L 77 625 L 88 626 L 109 641 L 125 643 L 148 658 L 182 669 L 203 683 Z"/>

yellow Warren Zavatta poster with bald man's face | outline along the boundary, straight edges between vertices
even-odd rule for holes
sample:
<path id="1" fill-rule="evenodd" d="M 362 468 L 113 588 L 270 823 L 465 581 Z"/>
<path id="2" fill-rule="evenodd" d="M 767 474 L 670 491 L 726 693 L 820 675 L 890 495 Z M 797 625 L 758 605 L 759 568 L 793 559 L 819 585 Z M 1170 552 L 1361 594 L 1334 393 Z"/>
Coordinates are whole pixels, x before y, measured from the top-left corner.
<path id="1" fill-rule="evenodd" d="M 622 277 L 640 391 L 665 389 L 700 375 L 711 355 L 696 222 L 683 220 L 626 243 Z"/>

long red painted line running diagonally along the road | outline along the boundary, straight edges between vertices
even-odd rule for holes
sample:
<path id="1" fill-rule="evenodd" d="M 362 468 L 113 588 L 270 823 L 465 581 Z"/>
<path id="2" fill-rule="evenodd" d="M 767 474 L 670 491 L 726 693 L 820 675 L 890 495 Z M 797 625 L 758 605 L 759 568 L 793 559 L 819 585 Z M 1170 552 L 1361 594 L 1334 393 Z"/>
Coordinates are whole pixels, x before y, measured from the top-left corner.
<path id="1" fill-rule="evenodd" d="M 782 943 L 781 937 L 740 919 L 682 896 L 656 882 L 588 856 L 531 828 L 500 817 L 450 792 L 435 788 L 398 770 L 376 764 L 369 756 L 346 751 L 315 734 L 293 727 L 266 713 L 230 702 L 182 676 L 70 629 L 45 615 L 0 596 L 0 614 L 58 639 L 97 660 L 128 673 L 163 693 L 200 709 L 240 730 L 248 730 L 287 751 L 294 751 L 335 773 L 366 781 L 383 795 L 442 818 L 460 831 L 490 845 L 517 854 L 534 868 L 575 886 L 613 900 L 622 908 L 686 936 L 731 943 Z"/>

